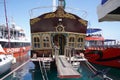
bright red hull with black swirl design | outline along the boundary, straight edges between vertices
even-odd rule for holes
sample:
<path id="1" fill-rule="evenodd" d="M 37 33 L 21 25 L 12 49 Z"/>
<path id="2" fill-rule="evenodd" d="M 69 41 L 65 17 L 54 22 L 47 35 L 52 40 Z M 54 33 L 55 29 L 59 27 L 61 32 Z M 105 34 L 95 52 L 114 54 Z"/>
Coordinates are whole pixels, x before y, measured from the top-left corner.
<path id="1" fill-rule="evenodd" d="M 120 48 L 86 49 L 85 57 L 91 63 L 120 68 Z"/>

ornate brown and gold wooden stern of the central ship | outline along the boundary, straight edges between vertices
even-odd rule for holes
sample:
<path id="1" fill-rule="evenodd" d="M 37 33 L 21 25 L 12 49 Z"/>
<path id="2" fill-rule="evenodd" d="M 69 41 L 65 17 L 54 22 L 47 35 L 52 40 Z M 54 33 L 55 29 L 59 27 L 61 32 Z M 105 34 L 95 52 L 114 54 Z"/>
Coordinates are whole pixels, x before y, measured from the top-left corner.
<path id="1" fill-rule="evenodd" d="M 54 46 L 64 55 L 65 47 L 76 51 L 84 49 L 87 21 L 58 6 L 55 12 L 30 19 L 31 58 L 54 55 Z M 35 55 L 35 56 L 34 56 Z"/>

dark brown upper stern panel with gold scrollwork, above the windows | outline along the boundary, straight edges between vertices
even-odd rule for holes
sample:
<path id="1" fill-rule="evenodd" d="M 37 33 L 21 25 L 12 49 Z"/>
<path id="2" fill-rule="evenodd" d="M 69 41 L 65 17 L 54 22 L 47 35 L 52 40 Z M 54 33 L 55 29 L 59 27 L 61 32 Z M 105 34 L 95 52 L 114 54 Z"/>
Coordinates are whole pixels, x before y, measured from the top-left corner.
<path id="1" fill-rule="evenodd" d="M 79 16 L 66 12 L 62 7 L 56 11 L 42 14 L 30 19 L 31 33 L 57 31 L 59 26 L 62 31 L 86 33 L 87 21 Z"/>

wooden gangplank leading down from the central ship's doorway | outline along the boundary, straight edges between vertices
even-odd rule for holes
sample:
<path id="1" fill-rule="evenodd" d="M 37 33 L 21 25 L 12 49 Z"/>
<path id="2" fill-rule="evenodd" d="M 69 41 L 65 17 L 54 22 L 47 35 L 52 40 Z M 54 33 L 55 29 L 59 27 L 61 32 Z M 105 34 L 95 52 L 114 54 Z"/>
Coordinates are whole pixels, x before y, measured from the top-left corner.
<path id="1" fill-rule="evenodd" d="M 67 61 L 65 56 L 58 56 L 58 58 L 56 58 L 56 65 L 59 78 L 80 78 L 81 76 Z"/>

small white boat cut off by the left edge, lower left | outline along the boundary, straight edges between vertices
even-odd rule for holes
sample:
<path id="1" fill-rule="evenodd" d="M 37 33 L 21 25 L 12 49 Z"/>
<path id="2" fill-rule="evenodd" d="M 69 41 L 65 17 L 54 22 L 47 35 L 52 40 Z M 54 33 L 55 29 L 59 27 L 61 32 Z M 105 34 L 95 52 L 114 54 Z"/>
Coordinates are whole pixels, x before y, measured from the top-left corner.
<path id="1" fill-rule="evenodd" d="M 0 45 L 0 75 L 8 71 L 12 66 L 14 57 L 12 55 L 6 55 Z"/>

